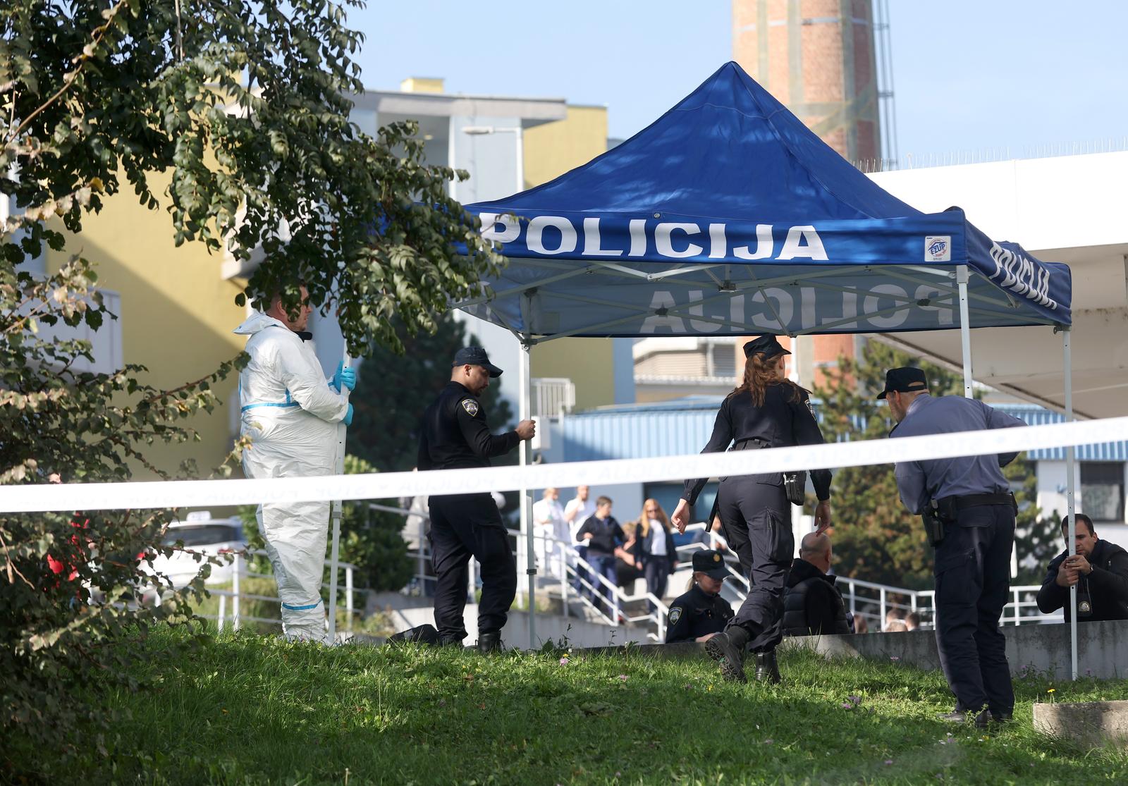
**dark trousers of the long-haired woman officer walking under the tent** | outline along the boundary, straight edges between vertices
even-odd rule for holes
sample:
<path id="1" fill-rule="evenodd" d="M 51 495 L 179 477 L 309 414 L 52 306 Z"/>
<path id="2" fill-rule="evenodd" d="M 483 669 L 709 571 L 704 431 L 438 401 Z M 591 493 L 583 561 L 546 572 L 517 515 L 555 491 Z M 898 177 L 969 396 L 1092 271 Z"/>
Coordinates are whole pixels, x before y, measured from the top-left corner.
<path id="1" fill-rule="evenodd" d="M 749 636 L 749 648 L 769 652 L 783 638 L 783 590 L 795 551 L 791 503 L 779 475 L 724 478 L 717 491 L 724 539 L 751 585 L 729 625 Z"/>

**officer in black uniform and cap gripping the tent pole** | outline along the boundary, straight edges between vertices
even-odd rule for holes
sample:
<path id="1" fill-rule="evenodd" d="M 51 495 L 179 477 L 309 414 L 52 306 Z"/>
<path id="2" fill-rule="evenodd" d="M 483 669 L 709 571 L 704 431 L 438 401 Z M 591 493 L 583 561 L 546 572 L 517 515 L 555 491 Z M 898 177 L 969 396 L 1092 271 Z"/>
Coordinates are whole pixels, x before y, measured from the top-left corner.
<path id="1" fill-rule="evenodd" d="M 490 459 L 504 456 L 521 440 L 532 439 L 535 424 L 521 421 L 504 434 L 490 433 L 478 396 L 501 369 L 490 362 L 481 346 L 467 346 L 455 355 L 450 381 L 423 413 L 420 427 L 418 468 L 464 469 L 488 467 Z M 509 533 L 493 497 L 478 494 L 432 494 L 431 560 L 437 586 L 434 621 L 442 644 L 466 637 L 467 567 L 473 556 L 482 565 L 482 600 L 478 604 L 478 648 L 501 647 L 501 629 L 517 594 L 517 564 Z"/>

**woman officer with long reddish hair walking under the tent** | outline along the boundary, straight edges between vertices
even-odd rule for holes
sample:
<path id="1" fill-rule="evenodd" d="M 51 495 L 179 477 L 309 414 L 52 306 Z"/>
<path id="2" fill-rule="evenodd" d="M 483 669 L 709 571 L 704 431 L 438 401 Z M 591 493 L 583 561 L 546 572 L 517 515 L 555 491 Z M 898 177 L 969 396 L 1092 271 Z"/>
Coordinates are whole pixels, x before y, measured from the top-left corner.
<path id="1" fill-rule="evenodd" d="M 785 355 L 775 336 L 744 344 L 744 379 L 721 404 L 713 435 L 702 452 L 821 444 L 808 392 L 784 377 Z M 686 480 L 672 521 L 679 531 L 689 523 L 689 509 L 707 478 Z M 830 526 L 830 471 L 811 473 L 819 504 L 818 531 Z M 725 679 L 744 680 L 744 651 L 756 653 L 756 679 L 779 681 L 775 647 L 783 636 L 783 590 L 795 550 L 791 506 L 783 475 L 721 478 L 719 511 L 729 546 L 749 572 L 748 598 L 724 633 L 705 643 L 705 651 L 721 662 Z"/>

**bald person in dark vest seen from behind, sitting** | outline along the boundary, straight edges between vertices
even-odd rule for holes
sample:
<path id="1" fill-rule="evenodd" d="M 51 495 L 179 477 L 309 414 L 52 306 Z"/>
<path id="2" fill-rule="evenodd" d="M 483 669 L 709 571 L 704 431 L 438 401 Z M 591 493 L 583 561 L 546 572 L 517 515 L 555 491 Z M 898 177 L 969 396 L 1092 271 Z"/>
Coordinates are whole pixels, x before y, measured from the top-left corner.
<path id="1" fill-rule="evenodd" d="M 846 604 L 830 569 L 830 538 L 818 532 L 803 536 L 799 557 L 791 564 L 783 592 L 783 632 L 786 636 L 848 634 Z"/>

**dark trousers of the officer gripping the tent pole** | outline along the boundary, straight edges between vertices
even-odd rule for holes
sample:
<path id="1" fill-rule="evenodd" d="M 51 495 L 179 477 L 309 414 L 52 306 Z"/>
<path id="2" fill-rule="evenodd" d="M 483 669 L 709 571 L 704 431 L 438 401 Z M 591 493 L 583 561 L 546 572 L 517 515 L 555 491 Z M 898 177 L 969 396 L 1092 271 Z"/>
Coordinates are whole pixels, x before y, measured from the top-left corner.
<path id="1" fill-rule="evenodd" d="M 517 594 L 517 563 L 509 532 L 490 494 L 432 495 L 431 562 L 434 565 L 434 626 L 444 641 L 466 637 L 470 557 L 482 566 L 478 635 L 504 627 Z"/>

